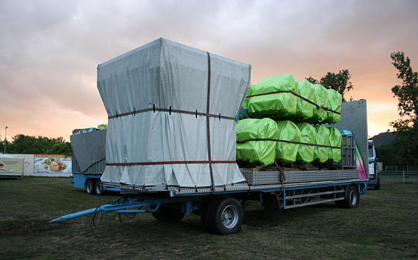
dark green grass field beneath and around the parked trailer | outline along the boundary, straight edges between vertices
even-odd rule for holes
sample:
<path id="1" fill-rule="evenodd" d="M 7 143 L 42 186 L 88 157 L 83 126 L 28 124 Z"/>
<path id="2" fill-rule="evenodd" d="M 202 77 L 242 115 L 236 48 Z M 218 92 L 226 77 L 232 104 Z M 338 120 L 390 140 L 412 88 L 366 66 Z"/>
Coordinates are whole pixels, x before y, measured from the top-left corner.
<path id="1" fill-rule="evenodd" d="M 263 219 L 256 203 L 245 213 L 245 232 L 217 236 L 200 217 L 158 222 L 150 214 L 95 238 L 91 216 L 47 221 L 118 198 L 88 195 L 69 178 L 0 180 L 0 259 L 417 259 L 418 185 L 382 184 L 356 209 L 320 204 Z"/>

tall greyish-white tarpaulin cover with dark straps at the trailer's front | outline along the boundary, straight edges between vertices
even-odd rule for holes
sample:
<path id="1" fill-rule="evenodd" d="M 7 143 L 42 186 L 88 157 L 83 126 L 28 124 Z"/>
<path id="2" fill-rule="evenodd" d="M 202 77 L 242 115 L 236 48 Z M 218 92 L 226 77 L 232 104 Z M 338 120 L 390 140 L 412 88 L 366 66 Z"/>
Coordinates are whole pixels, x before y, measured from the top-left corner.
<path id="1" fill-rule="evenodd" d="M 235 163 L 234 119 L 250 72 L 163 38 L 100 64 L 109 117 L 102 181 L 198 188 L 245 181 Z"/>

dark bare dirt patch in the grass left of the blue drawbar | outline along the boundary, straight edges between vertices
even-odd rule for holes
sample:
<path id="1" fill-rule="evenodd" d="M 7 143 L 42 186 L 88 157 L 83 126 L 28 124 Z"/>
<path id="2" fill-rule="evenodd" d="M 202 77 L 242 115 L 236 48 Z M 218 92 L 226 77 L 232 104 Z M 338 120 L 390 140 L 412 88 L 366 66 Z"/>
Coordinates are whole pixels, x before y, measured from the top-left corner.
<path id="1" fill-rule="evenodd" d="M 64 229 L 68 223 L 47 223 L 43 221 L 29 221 L 20 223 L 10 223 L 0 227 L 0 234 L 3 236 L 33 236 L 46 231 Z"/>

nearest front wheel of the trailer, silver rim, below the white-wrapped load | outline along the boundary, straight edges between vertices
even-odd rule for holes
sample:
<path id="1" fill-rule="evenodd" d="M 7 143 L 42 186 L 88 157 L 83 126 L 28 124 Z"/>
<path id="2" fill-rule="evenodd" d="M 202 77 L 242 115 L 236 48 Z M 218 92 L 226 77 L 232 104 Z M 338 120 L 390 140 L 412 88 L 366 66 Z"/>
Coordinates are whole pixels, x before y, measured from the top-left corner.
<path id="1" fill-rule="evenodd" d="M 212 230 L 219 235 L 237 233 L 242 224 L 242 206 L 235 198 L 217 199 L 210 211 Z"/>

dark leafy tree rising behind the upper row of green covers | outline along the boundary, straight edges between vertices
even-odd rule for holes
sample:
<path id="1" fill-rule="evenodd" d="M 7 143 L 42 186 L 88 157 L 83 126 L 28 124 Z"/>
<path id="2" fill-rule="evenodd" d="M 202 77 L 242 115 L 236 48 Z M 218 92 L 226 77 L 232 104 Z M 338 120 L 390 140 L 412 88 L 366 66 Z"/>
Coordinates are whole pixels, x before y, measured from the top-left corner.
<path id="1" fill-rule="evenodd" d="M 327 75 L 321 77 L 320 80 L 313 77 L 307 77 L 307 81 L 312 84 L 321 84 L 327 89 L 334 89 L 334 91 L 341 94 L 343 101 L 346 101 L 344 94 L 353 89 L 353 83 L 350 82 L 350 72 L 348 70 L 340 70 L 339 73 L 327 72 Z"/>

